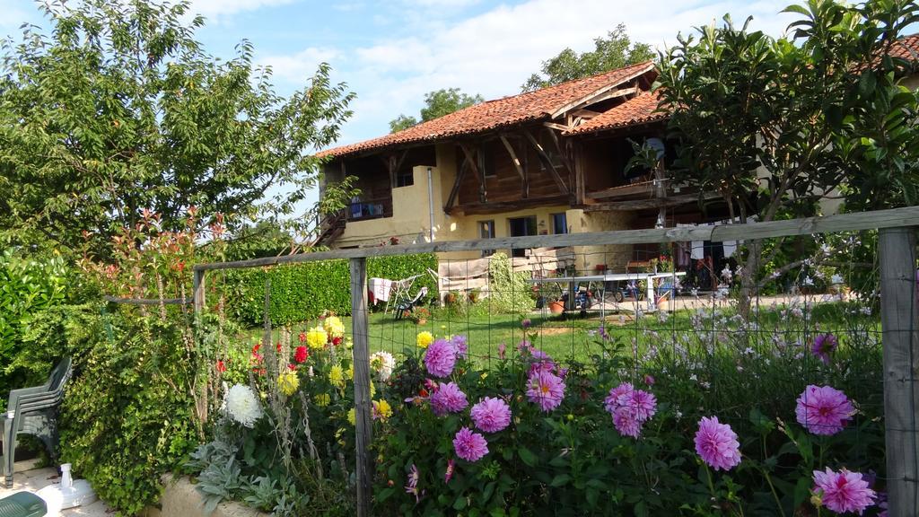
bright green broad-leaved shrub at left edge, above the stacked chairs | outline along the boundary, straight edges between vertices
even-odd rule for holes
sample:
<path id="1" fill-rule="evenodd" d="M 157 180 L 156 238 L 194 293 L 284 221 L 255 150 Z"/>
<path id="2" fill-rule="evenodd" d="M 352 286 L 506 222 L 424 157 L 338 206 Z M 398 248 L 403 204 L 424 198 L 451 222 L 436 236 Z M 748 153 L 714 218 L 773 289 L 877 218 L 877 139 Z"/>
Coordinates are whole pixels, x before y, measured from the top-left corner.
<path id="1" fill-rule="evenodd" d="M 42 384 L 61 350 L 30 339 L 45 312 L 66 301 L 69 270 L 64 260 L 20 258 L 0 252 L 0 408 L 10 389 Z"/>

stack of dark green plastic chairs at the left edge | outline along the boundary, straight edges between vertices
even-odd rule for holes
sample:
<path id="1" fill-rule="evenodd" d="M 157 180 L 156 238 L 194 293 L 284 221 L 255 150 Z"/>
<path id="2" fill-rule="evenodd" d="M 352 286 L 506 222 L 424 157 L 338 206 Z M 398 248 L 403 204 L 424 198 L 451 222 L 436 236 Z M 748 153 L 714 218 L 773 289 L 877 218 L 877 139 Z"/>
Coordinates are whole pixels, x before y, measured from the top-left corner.
<path id="1" fill-rule="evenodd" d="M 3 461 L 6 488 L 13 487 L 13 460 L 16 455 L 18 434 L 31 434 L 41 440 L 51 454 L 51 463 L 57 465 L 57 413 L 63 400 L 63 386 L 70 379 L 73 366 L 64 358 L 44 385 L 14 389 L 9 392 L 6 415 L 3 416 Z M 0 513 L 0 517 L 4 517 Z"/>

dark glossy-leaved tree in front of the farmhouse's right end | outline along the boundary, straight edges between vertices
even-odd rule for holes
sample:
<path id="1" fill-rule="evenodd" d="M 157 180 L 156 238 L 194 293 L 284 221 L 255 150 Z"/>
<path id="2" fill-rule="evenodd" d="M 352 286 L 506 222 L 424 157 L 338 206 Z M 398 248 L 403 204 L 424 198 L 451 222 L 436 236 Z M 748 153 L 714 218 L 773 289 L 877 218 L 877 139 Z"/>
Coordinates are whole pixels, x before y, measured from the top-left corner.
<path id="1" fill-rule="evenodd" d="M 888 51 L 919 6 L 811 0 L 786 11 L 801 16 L 790 38 L 725 17 L 664 54 L 658 91 L 679 142 L 673 174 L 718 192 L 742 223 L 811 215 L 840 188 L 853 206 L 914 200 L 915 159 L 893 153 L 915 156 L 916 96 L 896 84 L 905 63 Z M 742 310 L 769 260 L 748 244 Z"/>

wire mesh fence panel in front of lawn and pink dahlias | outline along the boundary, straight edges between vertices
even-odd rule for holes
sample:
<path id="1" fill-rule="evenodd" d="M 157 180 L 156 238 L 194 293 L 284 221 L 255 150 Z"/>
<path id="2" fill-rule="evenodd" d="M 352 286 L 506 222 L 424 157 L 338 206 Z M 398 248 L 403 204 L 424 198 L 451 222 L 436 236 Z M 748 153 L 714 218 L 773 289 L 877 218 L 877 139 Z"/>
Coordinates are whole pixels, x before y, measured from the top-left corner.
<path id="1" fill-rule="evenodd" d="M 902 242 L 912 272 L 895 280 L 913 294 L 893 309 L 909 355 L 916 264 Z M 857 473 L 868 514 L 904 481 L 891 514 L 919 504 L 914 442 L 885 444 L 881 312 L 893 309 L 877 230 L 452 255 L 420 273 L 436 292 L 384 283 L 380 297 L 375 279 L 351 279 L 354 355 L 341 365 L 354 369 L 359 512 L 816 515 L 843 508 L 814 475 L 827 468 Z M 438 359 L 445 347 L 455 355 Z M 886 380 L 912 393 L 902 361 L 909 373 Z M 503 425 L 476 416 L 493 398 Z M 893 403 L 914 441 L 914 401 Z M 730 426 L 738 461 L 699 445 L 709 418 Z M 348 416 L 327 419 L 325 439 L 345 443 Z M 905 464 L 894 477 L 891 454 Z"/>

